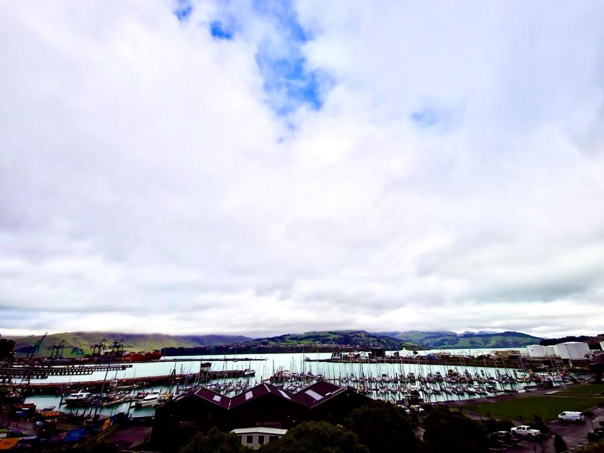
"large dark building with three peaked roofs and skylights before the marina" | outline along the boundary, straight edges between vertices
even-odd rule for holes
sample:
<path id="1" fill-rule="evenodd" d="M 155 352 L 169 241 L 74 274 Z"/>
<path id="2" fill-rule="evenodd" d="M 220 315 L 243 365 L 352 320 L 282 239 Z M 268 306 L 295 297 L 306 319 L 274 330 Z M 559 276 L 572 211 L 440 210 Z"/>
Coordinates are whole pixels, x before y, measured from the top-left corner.
<path id="1" fill-rule="evenodd" d="M 173 451 L 198 431 L 217 426 L 289 429 L 305 420 L 342 423 L 358 407 L 374 402 L 353 388 L 319 381 L 298 393 L 260 384 L 234 397 L 199 388 L 159 408 L 151 433 L 153 446 Z"/>

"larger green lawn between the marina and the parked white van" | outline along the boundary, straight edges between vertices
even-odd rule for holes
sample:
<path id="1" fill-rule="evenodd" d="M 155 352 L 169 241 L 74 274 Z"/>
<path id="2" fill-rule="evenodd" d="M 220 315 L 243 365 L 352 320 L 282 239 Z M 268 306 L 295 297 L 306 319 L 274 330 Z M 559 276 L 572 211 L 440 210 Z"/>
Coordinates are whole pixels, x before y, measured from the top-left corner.
<path id="1" fill-rule="evenodd" d="M 553 420 L 564 411 L 584 411 L 604 403 L 603 397 L 597 396 L 527 396 L 481 404 L 461 406 L 464 411 L 473 414 L 488 412 L 491 416 L 501 419 L 533 420 L 533 414 L 538 414 L 544 420 Z"/>

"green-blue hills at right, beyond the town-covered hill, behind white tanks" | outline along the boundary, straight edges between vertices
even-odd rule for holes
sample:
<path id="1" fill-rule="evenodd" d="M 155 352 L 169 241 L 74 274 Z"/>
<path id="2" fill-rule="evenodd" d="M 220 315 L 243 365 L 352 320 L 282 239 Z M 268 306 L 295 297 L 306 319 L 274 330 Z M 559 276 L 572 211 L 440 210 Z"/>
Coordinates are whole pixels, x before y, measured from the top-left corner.
<path id="1" fill-rule="evenodd" d="M 521 332 L 464 332 L 458 334 L 449 330 L 437 332 L 423 332 L 419 330 L 377 332 L 376 335 L 421 343 L 432 349 L 514 348 L 539 344 L 543 339 Z"/>

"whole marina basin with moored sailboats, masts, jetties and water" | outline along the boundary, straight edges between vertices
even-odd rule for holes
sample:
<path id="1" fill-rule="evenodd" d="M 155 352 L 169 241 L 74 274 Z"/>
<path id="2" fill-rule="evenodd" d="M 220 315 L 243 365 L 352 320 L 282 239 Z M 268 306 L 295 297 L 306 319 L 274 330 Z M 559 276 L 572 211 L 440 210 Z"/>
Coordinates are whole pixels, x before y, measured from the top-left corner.
<path id="1" fill-rule="evenodd" d="M 82 410 L 80 406 L 63 406 L 62 398 L 79 390 L 98 394 L 107 393 L 103 388 L 111 388 L 121 396 L 111 403 L 98 403 L 97 400 L 94 408 L 99 413 L 111 415 L 143 411 L 152 414 L 154 405 L 131 407 L 135 391 L 176 395 L 206 387 L 234 396 L 254 385 L 269 382 L 296 393 L 321 380 L 352 387 L 374 399 L 391 402 L 447 402 L 498 397 L 539 385 L 560 386 L 572 382 L 577 376 L 567 370 L 535 372 L 527 368 L 510 368 L 505 361 L 498 361 L 499 364 L 495 361 L 492 367 L 477 366 L 474 360 L 463 356 L 456 356 L 454 364 L 443 365 L 435 363 L 428 355 L 429 352 L 425 352 L 423 356 L 414 358 L 412 363 L 333 361 L 331 353 L 249 355 L 245 361 L 235 355 L 170 357 L 154 362 L 137 362 L 132 367 L 111 373 L 97 370 L 86 376 L 51 375 L 47 379 L 31 379 L 28 383 L 30 394 L 25 402 L 39 407 L 54 405 L 77 411 Z"/>

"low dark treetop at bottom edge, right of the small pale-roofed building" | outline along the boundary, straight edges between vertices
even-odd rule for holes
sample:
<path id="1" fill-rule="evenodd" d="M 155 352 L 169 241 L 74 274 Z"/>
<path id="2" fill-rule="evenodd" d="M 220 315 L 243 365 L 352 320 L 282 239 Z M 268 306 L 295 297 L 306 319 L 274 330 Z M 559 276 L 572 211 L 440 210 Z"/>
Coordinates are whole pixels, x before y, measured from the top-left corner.
<path id="1" fill-rule="evenodd" d="M 355 434 L 327 422 L 303 422 L 279 440 L 260 447 L 261 453 L 369 453 Z"/>

